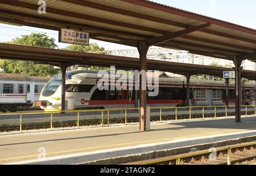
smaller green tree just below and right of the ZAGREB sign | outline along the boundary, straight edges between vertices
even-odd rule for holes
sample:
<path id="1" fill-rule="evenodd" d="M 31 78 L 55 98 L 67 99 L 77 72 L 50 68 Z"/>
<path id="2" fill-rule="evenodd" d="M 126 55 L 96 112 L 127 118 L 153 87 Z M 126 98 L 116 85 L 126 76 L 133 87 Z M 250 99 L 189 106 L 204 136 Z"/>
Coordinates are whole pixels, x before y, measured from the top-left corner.
<path id="1" fill-rule="evenodd" d="M 66 48 L 64 48 L 64 50 L 71 50 L 71 51 L 77 51 L 77 52 L 83 52 L 83 53 L 101 53 L 101 54 L 105 53 L 105 49 L 98 46 L 97 43 L 93 43 L 88 46 L 71 44 L 71 45 L 67 46 Z M 77 70 L 78 67 L 79 66 L 72 66 L 72 67 L 69 67 L 68 70 Z M 90 70 L 100 71 L 100 70 L 109 70 L 109 68 L 92 66 L 92 67 L 90 67 Z"/>

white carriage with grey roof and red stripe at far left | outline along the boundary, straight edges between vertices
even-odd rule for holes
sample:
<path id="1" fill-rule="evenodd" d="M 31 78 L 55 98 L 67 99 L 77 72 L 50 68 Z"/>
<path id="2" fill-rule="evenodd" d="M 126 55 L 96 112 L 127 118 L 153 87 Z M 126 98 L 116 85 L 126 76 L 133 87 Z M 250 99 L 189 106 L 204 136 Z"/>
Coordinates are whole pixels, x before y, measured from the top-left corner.
<path id="1" fill-rule="evenodd" d="M 0 111 L 32 106 L 50 78 L 0 74 Z"/>

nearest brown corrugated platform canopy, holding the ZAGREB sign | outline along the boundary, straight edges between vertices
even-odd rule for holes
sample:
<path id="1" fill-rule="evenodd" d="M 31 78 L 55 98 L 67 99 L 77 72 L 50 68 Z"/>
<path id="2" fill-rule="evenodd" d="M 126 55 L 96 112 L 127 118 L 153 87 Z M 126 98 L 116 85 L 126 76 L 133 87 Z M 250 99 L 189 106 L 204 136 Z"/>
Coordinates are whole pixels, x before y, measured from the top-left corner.
<path id="1" fill-rule="evenodd" d="M 0 21 L 47 29 L 88 31 L 90 38 L 118 44 L 188 50 L 233 59 L 256 58 L 256 31 L 222 20 L 144 0 L 0 0 Z M 252 22 L 253 23 L 253 22 Z"/>

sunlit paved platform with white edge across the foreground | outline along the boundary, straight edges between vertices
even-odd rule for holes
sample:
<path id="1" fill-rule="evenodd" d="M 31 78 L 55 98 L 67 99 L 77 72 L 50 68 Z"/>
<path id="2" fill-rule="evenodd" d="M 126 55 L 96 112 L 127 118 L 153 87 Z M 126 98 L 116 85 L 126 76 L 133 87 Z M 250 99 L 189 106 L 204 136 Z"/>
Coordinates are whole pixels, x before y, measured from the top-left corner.
<path id="1" fill-rule="evenodd" d="M 256 136 L 256 117 L 0 136 L 0 164 L 79 164 L 104 158 Z M 38 159 L 46 154 L 46 158 Z"/>

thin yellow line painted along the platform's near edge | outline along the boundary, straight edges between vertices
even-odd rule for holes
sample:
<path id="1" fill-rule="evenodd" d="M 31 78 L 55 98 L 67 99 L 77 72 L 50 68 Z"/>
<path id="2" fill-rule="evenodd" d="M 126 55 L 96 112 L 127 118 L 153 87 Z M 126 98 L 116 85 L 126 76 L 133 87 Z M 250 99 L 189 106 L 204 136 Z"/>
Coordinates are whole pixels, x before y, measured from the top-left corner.
<path id="1" fill-rule="evenodd" d="M 225 132 L 231 132 L 231 131 L 248 131 L 248 130 L 255 130 L 256 128 L 249 128 L 249 129 L 241 129 L 241 130 L 225 130 L 225 131 L 217 131 L 217 132 L 207 132 L 204 134 L 200 134 L 200 135 L 188 135 L 188 136 L 180 136 L 180 137 L 176 137 L 176 138 L 164 138 L 164 139 L 155 139 L 155 140 L 146 140 L 146 141 L 137 141 L 137 142 L 133 142 L 133 143 L 123 143 L 123 144 L 114 144 L 114 145 L 105 145 L 105 146 L 98 146 L 98 147 L 89 147 L 89 148 L 81 148 L 81 149 L 72 149 L 72 150 L 67 150 L 67 151 L 59 151 L 59 152 L 50 152 L 50 153 L 46 153 L 46 155 L 48 154 L 58 154 L 58 153 L 68 153 L 68 152 L 78 152 L 78 151 L 86 151 L 86 150 L 90 150 L 90 149 L 100 149 L 100 148 L 112 148 L 112 147 L 119 147 L 122 145 L 132 145 L 132 144 L 141 144 L 141 143 L 145 143 L 148 144 L 150 142 L 156 142 L 156 141 L 162 141 L 162 140 L 174 140 L 174 139 L 183 139 L 183 138 L 189 138 L 189 137 L 193 137 L 193 136 L 204 136 L 204 135 L 212 135 L 212 134 L 220 134 L 220 133 L 225 133 Z M 75 153 L 74 153 L 75 154 Z M 0 161 L 6 161 L 6 160 L 15 160 L 15 159 L 19 159 L 19 158 L 28 158 L 28 157 L 36 157 L 38 156 L 38 154 L 31 154 L 31 155 L 27 155 L 27 156 L 20 156 L 20 157 L 12 157 L 12 158 L 3 158 L 0 159 Z"/>

